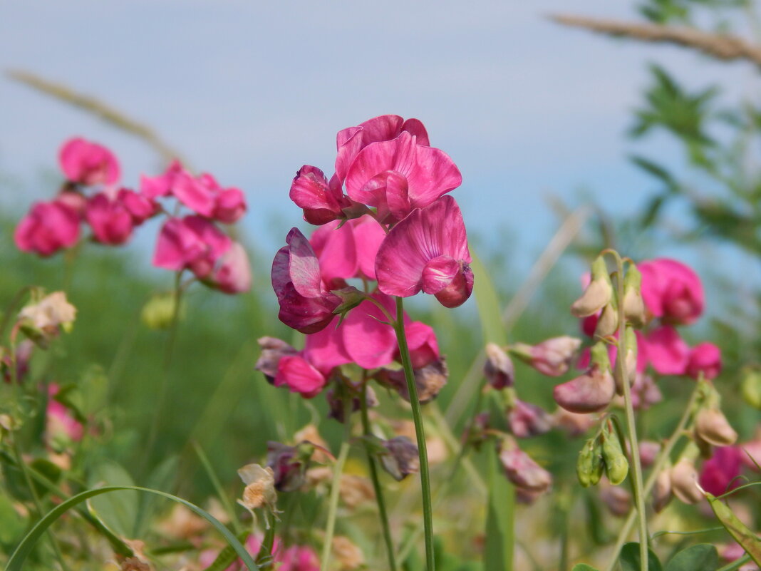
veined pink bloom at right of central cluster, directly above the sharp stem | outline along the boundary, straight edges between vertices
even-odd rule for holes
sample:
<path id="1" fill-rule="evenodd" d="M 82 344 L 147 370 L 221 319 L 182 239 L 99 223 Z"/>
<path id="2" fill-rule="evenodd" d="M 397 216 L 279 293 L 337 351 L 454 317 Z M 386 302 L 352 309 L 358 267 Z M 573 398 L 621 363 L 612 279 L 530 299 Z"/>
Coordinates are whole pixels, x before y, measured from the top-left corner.
<path id="1" fill-rule="evenodd" d="M 455 308 L 473 292 L 470 261 L 460 207 L 444 196 L 391 229 L 375 258 L 375 275 L 388 295 L 406 298 L 422 289 Z"/>

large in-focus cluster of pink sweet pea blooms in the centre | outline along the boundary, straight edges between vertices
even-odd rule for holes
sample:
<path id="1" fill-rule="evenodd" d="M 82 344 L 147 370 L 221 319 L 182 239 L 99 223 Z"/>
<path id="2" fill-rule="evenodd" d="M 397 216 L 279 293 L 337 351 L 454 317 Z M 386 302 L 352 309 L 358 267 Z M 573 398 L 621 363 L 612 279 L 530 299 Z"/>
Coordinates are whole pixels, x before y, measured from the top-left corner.
<path id="1" fill-rule="evenodd" d="M 292 228 L 272 263 L 279 318 L 306 334 L 304 349 L 263 338 L 256 366 L 275 386 L 314 397 L 340 377 L 340 365 L 355 363 L 409 397 L 393 365 L 400 352 L 392 296 L 422 290 L 456 307 L 473 291 L 463 217 L 444 196 L 462 177 L 449 156 L 429 145 L 419 120 L 396 115 L 343 129 L 337 151 L 330 180 L 304 165 L 291 184 L 304 219 L 320 228 L 308 239 Z M 338 314 L 339 324 L 328 327 Z M 447 374 L 435 333 L 403 318 L 421 400 L 430 399 Z"/>

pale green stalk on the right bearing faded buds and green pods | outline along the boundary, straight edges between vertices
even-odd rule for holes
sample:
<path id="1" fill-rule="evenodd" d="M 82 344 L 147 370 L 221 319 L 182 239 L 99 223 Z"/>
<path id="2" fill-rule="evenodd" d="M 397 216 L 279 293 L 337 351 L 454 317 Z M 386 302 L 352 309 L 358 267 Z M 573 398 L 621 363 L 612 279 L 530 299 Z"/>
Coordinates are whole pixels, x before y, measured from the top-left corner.
<path id="1" fill-rule="evenodd" d="M 639 445 L 637 442 L 637 425 L 634 416 L 634 407 L 632 406 L 632 388 L 629 386 L 629 375 L 626 372 L 624 362 L 626 361 L 626 315 L 623 308 L 623 262 L 617 252 L 613 253 L 616 257 L 616 270 L 618 279 L 616 279 L 616 291 L 618 293 L 618 313 L 619 313 L 619 338 L 618 350 L 616 352 L 616 381 L 623 388 L 623 400 L 626 410 L 626 425 L 629 429 L 629 446 L 632 451 L 632 471 L 634 480 L 632 490 L 634 491 L 634 502 L 637 509 L 637 521 L 639 523 L 639 557 L 640 569 L 648 571 L 648 522 L 645 515 L 645 486 L 642 484 L 642 463 L 639 458 Z"/>

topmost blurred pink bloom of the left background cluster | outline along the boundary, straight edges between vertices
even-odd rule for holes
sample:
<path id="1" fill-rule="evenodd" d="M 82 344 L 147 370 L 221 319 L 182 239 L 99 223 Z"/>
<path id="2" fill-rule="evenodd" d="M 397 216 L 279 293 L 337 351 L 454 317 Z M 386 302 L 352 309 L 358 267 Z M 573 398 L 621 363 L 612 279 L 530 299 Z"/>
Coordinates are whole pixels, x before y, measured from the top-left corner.
<path id="1" fill-rule="evenodd" d="M 107 148 L 85 139 L 68 139 L 59 152 L 59 163 L 68 180 L 92 186 L 119 180 L 119 161 Z"/>

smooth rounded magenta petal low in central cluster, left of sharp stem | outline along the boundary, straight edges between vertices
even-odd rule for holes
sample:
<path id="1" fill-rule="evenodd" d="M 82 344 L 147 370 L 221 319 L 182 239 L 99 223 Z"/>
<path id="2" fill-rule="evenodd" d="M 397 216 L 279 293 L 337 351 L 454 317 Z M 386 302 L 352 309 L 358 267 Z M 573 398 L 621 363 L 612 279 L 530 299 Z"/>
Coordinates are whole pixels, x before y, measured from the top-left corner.
<path id="1" fill-rule="evenodd" d="M 387 296 L 373 297 L 393 311 L 393 301 Z M 387 321 L 387 317 L 380 309 L 371 301 L 363 301 L 339 326 L 346 352 L 362 368 L 383 367 L 393 361 L 396 334 L 393 327 L 381 321 Z"/>

